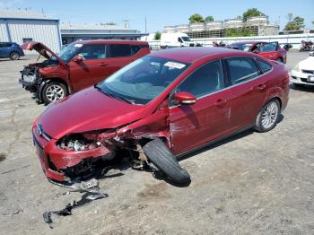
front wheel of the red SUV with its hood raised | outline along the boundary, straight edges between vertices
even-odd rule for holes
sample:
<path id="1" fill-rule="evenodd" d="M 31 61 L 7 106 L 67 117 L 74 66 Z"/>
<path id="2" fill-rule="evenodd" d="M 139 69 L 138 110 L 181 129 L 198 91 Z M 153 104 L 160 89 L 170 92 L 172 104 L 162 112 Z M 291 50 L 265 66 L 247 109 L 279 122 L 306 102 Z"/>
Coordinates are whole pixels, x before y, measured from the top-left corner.
<path id="1" fill-rule="evenodd" d="M 53 91 L 53 90 L 56 91 Z M 54 93 L 53 93 L 54 92 Z M 58 93 L 59 92 L 59 93 Z M 67 96 L 68 91 L 64 83 L 50 82 L 45 84 L 41 91 L 41 98 L 45 104 L 60 100 Z"/>

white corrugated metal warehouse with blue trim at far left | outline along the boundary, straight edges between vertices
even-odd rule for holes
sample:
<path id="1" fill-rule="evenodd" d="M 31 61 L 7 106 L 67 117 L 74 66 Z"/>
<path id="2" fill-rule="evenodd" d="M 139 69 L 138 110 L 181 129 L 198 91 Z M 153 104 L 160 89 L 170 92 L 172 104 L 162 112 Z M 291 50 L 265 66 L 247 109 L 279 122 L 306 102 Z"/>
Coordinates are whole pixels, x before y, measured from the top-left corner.
<path id="1" fill-rule="evenodd" d="M 42 42 L 53 51 L 59 51 L 59 20 L 32 11 L 0 10 L 0 41 L 22 44 L 31 40 Z"/>

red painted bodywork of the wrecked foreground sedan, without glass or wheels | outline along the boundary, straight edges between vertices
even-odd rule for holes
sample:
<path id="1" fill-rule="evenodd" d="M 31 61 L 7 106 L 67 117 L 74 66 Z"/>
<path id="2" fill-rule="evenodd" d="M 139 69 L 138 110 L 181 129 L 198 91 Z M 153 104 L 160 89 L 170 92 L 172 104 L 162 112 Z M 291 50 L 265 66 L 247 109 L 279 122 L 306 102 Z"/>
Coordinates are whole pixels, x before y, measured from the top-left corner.
<path id="1" fill-rule="evenodd" d="M 284 65 L 271 62 L 273 70 L 257 79 L 229 86 L 196 100 L 195 104 L 170 107 L 169 97 L 179 83 L 201 65 L 224 57 L 257 57 L 253 53 L 227 48 L 178 48 L 154 52 L 152 56 L 166 57 L 175 61 L 191 63 L 177 80 L 161 95 L 146 105 L 132 105 L 110 98 L 93 87 L 76 92 L 65 100 L 51 104 L 33 124 L 33 135 L 44 149 L 41 165 L 48 178 L 62 181 L 64 175 L 48 167 L 49 156 L 57 170 L 74 166 L 88 157 L 99 157 L 109 149 L 89 151 L 65 151 L 57 149 L 57 140 L 74 133 L 106 129 L 99 138 L 125 137 L 140 139 L 159 136 L 168 139 L 170 151 L 181 154 L 194 148 L 231 135 L 254 123 L 259 109 L 272 98 L 281 101 L 285 109 L 289 94 L 289 76 Z M 188 92 L 177 93 L 177 100 L 192 100 Z M 37 132 L 40 124 L 53 139 L 45 140 Z M 103 151 L 102 153 L 100 153 Z"/>

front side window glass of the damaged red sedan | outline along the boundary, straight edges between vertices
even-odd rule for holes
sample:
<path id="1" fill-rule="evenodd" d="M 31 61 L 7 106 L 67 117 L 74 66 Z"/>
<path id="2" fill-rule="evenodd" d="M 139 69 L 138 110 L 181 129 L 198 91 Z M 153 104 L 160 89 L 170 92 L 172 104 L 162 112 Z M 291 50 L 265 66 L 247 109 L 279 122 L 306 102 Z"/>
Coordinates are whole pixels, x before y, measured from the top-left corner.
<path id="1" fill-rule="evenodd" d="M 183 83 L 179 84 L 176 91 L 187 91 L 199 98 L 219 91 L 223 87 L 222 65 L 220 61 L 214 61 L 189 75 Z"/>

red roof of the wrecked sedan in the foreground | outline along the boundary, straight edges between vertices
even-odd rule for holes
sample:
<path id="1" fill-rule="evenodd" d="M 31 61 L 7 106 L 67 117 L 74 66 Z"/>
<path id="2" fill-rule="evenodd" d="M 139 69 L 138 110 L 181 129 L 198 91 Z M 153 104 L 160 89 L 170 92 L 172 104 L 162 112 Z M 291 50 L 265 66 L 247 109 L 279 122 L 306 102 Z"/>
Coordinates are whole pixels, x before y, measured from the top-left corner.
<path id="1" fill-rule="evenodd" d="M 153 57 L 164 57 L 183 63 L 194 63 L 196 60 L 204 57 L 236 57 L 236 56 L 251 56 L 251 53 L 242 50 L 219 47 L 188 47 L 188 48 L 170 48 L 154 51 L 150 54 Z"/>

